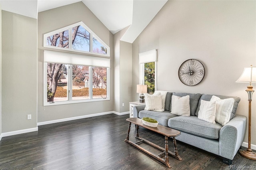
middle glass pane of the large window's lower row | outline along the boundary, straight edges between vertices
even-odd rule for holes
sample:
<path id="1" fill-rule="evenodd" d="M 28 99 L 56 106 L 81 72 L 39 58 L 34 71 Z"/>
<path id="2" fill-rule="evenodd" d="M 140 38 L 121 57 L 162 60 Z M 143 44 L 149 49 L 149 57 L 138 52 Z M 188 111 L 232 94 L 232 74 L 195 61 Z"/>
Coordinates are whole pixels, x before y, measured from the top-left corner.
<path id="1" fill-rule="evenodd" d="M 72 100 L 89 98 L 89 67 L 72 65 Z"/>

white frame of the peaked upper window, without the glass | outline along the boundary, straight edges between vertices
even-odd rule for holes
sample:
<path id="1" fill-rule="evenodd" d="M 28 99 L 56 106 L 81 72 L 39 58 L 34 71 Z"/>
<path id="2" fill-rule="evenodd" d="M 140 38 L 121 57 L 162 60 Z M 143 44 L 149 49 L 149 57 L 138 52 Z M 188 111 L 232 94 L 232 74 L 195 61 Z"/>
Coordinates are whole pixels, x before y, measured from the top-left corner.
<path id="1" fill-rule="evenodd" d="M 80 25 L 83 26 L 90 33 L 90 51 L 82 51 L 82 50 L 72 49 L 72 41 L 70 42 L 70 40 L 72 40 L 72 28 L 74 28 L 76 26 L 80 26 Z M 47 37 L 52 36 L 54 34 L 58 34 L 60 32 L 66 31 L 66 30 L 68 30 L 68 36 L 69 36 L 69 38 L 68 38 L 68 40 L 69 40 L 68 48 L 60 48 L 60 47 L 56 47 L 56 46 L 52 46 L 52 45 L 47 45 Z M 104 47 L 106 47 L 107 54 L 101 54 L 101 53 L 94 53 L 93 52 L 93 38 L 96 38 L 96 40 L 98 42 L 100 42 L 102 45 L 104 45 Z M 88 26 L 86 26 L 82 21 L 78 22 L 76 24 L 72 24 L 70 26 L 66 26 L 64 28 L 60 28 L 58 30 L 49 32 L 47 34 L 44 34 L 44 47 L 110 57 L 110 47 L 106 43 L 104 43 L 94 32 L 92 32 L 92 30 L 90 30 L 90 28 L 88 28 Z"/>

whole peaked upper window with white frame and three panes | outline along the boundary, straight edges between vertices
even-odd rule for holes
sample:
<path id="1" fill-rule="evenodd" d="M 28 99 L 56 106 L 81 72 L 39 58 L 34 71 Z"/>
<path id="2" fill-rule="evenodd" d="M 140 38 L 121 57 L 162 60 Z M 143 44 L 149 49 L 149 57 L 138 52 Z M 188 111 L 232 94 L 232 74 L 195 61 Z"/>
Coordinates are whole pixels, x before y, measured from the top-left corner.
<path id="1" fill-rule="evenodd" d="M 110 56 L 110 47 L 83 22 L 44 34 L 44 47 Z"/>

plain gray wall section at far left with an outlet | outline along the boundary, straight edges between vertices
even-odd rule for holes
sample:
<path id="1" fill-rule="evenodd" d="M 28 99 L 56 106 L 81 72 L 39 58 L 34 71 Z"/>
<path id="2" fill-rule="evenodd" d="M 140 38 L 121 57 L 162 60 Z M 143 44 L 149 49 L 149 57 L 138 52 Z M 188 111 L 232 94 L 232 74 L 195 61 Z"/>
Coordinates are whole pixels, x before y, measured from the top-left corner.
<path id="1" fill-rule="evenodd" d="M 2 41 L 2 133 L 36 128 L 37 20 L 2 11 Z"/>

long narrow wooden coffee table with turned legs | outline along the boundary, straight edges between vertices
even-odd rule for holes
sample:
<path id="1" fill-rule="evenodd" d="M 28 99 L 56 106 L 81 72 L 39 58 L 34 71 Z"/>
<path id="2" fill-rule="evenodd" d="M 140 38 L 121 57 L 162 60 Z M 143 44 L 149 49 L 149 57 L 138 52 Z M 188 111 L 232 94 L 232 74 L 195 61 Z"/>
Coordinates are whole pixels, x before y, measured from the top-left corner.
<path id="1" fill-rule="evenodd" d="M 132 144 L 133 146 L 135 146 L 136 148 L 142 150 L 143 152 L 145 152 L 146 154 L 149 154 L 150 156 L 152 156 L 153 158 L 156 158 L 157 160 L 159 160 L 160 162 L 164 163 L 166 166 L 168 166 L 169 168 L 171 168 L 170 164 L 169 164 L 169 157 L 168 157 L 168 154 L 172 155 L 174 158 L 177 158 L 178 160 L 182 160 L 182 158 L 179 156 L 178 154 L 178 150 L 177 150 L 177 144 L 176 144 L 176 139 L 175 137 L 180 135 L 180 131 L 178 130 L 175 130 L 175 129 L 172 129 L 172 128 L 169 128 L 169 127 L 164 127 L 164 126 L 161 126 L 161 125 L 157 125 L 157 127 L 149 127 L 147 125 L 144 125 L 142 123 L 142 120 L 139 119 L 139 118 L 128 118 L 126 119 L 126 121 L 130 122 L 129 123 L 129 127 L 128 127 L 128 133 L 127 133 L 127 136 L 126 136 L 126 139 L 124 140 L 125 142 L 128 142 L 130 144 Z M 138 142 L 132 142 L 129 140 L 129 133 L 130 133 L 130 128 L 131 128 L 131 124 L 135 124 L 136 125 L 136 136 L 135 138 L 139 139 Z M 139 134 L 138 134 L 138 129 L 139 127 L 144 127 L 144 128 L 147 128 L 149 130 L 152 130 L 154 132 L 157 132 L 159 134 L 162 134 L 164 135 L 165 137 L 165 148 L 162 148 L 161 146 L 158 146 L 144 138 L 141 138 L 139 137 Z M 169 137 L 172 137 L 173 138 L 173 144 L 174 144 L 174 153 L 171 152 L 170 150 L 168 150 L 168 138 Z M 151 146 L 163 151 L 161 153 L 159 153 L 158 155 L 142 148 L 141 146 L 139 146 L 139 144 L 142 144 L 142 143 L 147 143 L 147 144 L 150 144 Z M 164 155 L 165 154 L 165 159 L 161 158 L 160 156 Z"/>

